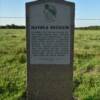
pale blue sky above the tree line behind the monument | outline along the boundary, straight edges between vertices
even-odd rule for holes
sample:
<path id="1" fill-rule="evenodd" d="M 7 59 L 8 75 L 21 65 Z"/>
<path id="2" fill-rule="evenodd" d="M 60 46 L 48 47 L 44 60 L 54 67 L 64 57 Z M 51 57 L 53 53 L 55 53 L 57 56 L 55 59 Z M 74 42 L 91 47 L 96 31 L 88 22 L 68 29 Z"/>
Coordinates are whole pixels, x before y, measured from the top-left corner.
<path id="1" fill-rule="evenodd" d="M 0 0 L 0 25 L 25 25 L 25 3 L 34 0 Z M 100 25 L 100 0 L 68 0 L 75 2 L 76 26 Z M 7 18 L 22 17 L 22 18 Z M 80 20 L 94 19 L 94 20 Z M 99 19 L 99 20 L 96 20 Z"/>

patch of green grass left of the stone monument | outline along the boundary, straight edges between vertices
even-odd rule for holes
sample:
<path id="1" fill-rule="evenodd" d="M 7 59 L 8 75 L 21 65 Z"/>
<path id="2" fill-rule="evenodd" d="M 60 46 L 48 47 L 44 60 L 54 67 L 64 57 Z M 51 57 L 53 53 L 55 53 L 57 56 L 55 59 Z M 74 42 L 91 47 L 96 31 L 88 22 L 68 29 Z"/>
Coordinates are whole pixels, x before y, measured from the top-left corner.
<path id="1" fill-rule="evenodd" d="M 20 100 L 25 89 L 25 30 L 0 29 L 0 100 Z"/>

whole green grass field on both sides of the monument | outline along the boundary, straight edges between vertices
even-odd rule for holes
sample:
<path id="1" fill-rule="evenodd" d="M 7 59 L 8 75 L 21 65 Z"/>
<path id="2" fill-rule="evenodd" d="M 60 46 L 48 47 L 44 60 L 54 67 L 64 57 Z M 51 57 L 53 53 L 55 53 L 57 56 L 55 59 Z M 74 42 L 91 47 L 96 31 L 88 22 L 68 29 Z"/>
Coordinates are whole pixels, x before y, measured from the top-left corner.
<path id="1" fill-rule="evenodd" d="M 22 100 L 26 91 L 24 29 L 0 29 L 0 100 Z M 76 30 L 74 97 L 100 100 L 100 30 Z"/>

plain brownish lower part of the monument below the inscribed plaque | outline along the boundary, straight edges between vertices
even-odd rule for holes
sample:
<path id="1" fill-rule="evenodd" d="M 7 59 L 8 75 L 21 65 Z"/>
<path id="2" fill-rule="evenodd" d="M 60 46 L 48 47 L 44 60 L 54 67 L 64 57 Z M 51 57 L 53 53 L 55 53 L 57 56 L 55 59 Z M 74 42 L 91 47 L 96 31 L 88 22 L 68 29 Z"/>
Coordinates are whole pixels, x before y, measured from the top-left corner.
<path id="1" fill-rule="evenodd" d="M 31 65 L 27 100 L 72 100 L 72 66 Z"/>

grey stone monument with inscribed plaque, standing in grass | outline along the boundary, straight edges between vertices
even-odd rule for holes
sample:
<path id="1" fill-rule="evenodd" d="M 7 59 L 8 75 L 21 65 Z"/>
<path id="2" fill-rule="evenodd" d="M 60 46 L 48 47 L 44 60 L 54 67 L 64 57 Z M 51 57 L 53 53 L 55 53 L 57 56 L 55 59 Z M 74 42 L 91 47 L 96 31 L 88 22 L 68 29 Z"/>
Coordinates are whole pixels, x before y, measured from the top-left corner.
<path id="1" fill-rule="evenodd" d="M 27 100 L 72 100 L 74 8 L 64 0 L 26 3 Z"/>

